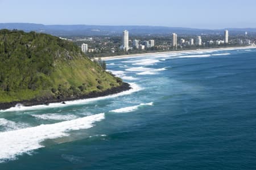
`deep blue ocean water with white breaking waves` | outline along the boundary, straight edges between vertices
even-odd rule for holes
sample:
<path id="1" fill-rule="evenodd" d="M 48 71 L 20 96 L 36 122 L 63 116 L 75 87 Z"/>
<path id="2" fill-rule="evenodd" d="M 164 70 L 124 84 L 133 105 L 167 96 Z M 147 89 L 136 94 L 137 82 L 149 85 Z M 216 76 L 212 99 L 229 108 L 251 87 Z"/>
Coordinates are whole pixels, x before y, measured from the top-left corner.
<path id="1" fill-rule="evenodd" d="M 133 93 L 0 112 L 0 169 L 256 169 L 255 49 L 107 63 Z"/>

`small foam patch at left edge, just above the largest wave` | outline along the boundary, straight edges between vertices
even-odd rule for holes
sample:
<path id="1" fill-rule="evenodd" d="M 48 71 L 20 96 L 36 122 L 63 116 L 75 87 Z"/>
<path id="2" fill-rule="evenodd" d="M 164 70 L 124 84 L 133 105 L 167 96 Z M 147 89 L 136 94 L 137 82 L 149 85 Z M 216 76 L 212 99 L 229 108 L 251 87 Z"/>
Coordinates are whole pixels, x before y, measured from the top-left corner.
<path id="1" fill-rule="evenodd" d="M 0 126 L 2 126 L 3 130 L 10 131 L 10 130 L 17 130 L 21 128 L 27 128 L 29 125 L 6 120 L 5 118 L 0 118 Z"/>

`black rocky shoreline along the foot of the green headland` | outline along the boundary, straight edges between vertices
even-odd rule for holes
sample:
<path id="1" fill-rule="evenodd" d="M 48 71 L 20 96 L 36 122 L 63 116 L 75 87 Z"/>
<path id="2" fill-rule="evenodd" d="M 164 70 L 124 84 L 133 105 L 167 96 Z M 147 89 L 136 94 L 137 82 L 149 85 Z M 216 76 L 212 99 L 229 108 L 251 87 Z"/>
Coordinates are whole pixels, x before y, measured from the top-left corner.
<path id="1" fill-rule="evenodd" d="M 64 99 L 48 99 L 44 101 L 32 99 L 32 100 L 23 100 L 23 101 L 13 101 L 9 103 L 0 103 L 0 111 L 5 111 L 6 109 L 16 107 L 17 104 L 21 104 L 23 107 L 31 107 L 35 105 L 49 105 L 51 103 L 64 102 L 63 105 L 65 105 L 65 102 L 67 101 L 85 100 L 85 99 L 93 99 L 96 97 L 104 97 L 104 96 L 114 95 L 124 91 L 128 91 L 130 89 L 131 89 L 130 84 L 123 82 L 121 86 L 113 87 L 102 92 L 90 92 L 89 94 L 86 94 L 86 95 L 66 97 Z"/>

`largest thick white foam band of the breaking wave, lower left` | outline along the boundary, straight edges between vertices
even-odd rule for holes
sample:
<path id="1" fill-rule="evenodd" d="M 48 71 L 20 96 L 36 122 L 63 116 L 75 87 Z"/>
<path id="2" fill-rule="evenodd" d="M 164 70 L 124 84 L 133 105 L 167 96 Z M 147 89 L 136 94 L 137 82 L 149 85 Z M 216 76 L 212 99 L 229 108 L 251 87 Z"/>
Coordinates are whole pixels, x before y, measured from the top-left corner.
<path id="1" fill-rule="evenodd" d="M 68 131 L 92 128 L 93 123 L 104 120 L 105 114 L 94 114 L 71 121 L 0 133 L 0 162 L 14 160 L 16 156 L 44 147 L 41 142 L 68 136 Z"/>

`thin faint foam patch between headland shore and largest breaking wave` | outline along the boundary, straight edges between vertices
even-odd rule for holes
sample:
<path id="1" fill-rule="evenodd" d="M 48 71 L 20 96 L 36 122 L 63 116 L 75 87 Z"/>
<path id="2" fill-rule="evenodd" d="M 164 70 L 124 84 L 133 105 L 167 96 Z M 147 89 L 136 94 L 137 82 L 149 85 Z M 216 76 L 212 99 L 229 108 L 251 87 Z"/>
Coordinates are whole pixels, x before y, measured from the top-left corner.
<path id="1" fill-rule="evenodd" d="M 31 114 L 31 116 L 43 120 L 73 120 L 79 118 L 73 114 Z"/>

